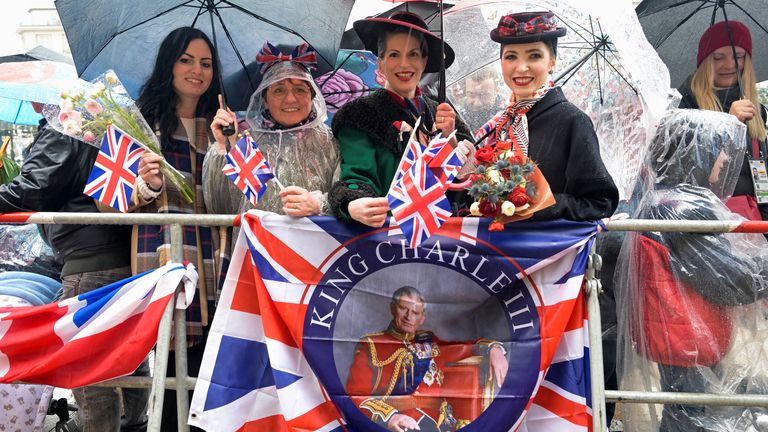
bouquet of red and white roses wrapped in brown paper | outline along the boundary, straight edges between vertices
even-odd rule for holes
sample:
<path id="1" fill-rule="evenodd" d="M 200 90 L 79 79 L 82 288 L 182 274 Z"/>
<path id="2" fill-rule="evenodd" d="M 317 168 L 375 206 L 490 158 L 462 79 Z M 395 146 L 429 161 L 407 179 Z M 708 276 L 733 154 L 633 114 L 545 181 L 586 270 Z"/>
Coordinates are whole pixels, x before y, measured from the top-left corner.
<path id="1" fill-rule="evenodd" d="M 470 174 L 469 195 L 473 216 L 493 218 L 489 231 L 501 231 L 504 224 L 527 219 L 554 204 L 549 184 L 536 164 L 510 141 L 498 141 L 475 152 L 477 168 Z"/>

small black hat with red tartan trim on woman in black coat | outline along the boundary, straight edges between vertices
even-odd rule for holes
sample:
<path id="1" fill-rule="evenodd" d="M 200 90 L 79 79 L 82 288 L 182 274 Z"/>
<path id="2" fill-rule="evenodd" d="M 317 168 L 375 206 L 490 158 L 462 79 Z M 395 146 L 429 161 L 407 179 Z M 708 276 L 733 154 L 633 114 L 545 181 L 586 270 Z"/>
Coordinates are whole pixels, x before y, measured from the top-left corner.
<path id="1" fill-rule="evenodd" d="M 558 23 L 555 14 L 549 11 L 504 15 L 491 30 L 491 40 L 500 44 L 551 41 L 565 36 L 565 27 L 559 27 Z"/>

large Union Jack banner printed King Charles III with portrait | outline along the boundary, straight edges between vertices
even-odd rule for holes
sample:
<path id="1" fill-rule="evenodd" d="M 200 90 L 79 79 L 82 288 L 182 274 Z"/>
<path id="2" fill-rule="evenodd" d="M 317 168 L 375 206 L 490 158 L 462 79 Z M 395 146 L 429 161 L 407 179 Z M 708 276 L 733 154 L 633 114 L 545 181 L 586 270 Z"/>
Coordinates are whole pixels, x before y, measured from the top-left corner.
<path id="1" fill-rule="evenodd" d="M 587 431 L 601 224 L 243 216 L 189 422 L 208 431 Z"/>

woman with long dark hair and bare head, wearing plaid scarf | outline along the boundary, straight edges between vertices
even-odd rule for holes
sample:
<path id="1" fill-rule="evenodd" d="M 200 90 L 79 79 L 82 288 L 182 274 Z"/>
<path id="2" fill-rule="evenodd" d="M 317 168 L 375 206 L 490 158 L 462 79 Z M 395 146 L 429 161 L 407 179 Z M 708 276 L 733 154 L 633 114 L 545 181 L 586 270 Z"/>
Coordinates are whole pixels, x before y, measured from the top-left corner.
<path id="1" fill-rule="evenodd" d="M 205 214 L 203 202 L 203 158 L 208 151 L 210 122 L 218 108 L 218 59 L 208 37 L 192 27 L 173 30 L 160 45 L 152 75 L 142 87 L 138 105 L 160 139 L 162 156 L 145 153 L 139 162 L 134 204 L 136 212 Z M 194 191 L 187 202 L 160 173 L 165 159 L 179 170 Z M 134 274 L 164 265 L 170 259 L 170 227 L 133 227 L 131 267 Z M 218 288 L 214 269 L 214 240 L 209 227 L 182 227 L 184 260 L 195 264 L 199 292 L 187 308 L 187 362 L 189 374 L 197 376 L 202 362 L 207 328 L 213 318 Z M 175 375 L 171 352 L 168 376 Z M 166 391 L 162 430 L 176 430 L 176 394 Z"/>

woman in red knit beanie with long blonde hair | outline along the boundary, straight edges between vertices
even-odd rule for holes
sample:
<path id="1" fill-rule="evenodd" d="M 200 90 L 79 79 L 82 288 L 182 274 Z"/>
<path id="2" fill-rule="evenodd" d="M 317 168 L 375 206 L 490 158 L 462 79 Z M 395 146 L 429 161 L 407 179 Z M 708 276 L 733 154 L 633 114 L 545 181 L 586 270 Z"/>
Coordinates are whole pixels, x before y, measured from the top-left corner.
<path id="1" fill-rule="evenodd" d="M 729 30 L 734 47 L 731 46 Z M 741 88 L 737 73 L 741 74 Z M 766 110 L 757 100 L 749 29 L 733 20 L 721 21 L 708 28 L 699 40 L 697 69 L 679 91 L 683 96 L 680 108 L 727 112 L 747 125 L 744 163 L 733 197 L 726 205 L 747 219 L 768 220 L 768 204 L 757 203 L 752 176 L 754 164 L 750 163 L 766 162 Z"/>

